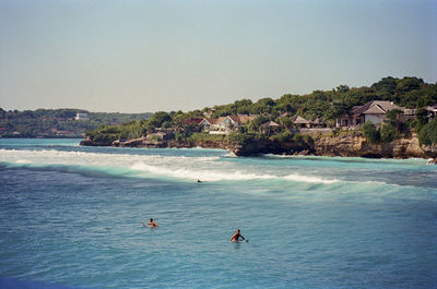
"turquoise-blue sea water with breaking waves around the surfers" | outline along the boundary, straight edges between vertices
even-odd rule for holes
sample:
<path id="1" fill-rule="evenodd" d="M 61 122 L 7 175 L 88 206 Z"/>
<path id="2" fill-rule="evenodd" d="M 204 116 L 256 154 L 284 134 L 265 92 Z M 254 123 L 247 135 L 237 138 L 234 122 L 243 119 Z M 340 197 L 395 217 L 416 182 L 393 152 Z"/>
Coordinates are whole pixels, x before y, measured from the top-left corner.
<path id="1" fill-rule="evenodd" d="M 437 288 L 424 159 L 78 144 L 0 140 L 0 288 Z"/>

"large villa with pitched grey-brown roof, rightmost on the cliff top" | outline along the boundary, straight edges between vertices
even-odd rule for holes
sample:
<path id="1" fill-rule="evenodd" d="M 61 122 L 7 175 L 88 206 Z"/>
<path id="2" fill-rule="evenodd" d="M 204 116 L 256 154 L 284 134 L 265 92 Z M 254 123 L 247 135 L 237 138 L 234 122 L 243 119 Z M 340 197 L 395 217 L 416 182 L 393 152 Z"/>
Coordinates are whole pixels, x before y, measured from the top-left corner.
<path id="1" fill-rule="evenodd" d="M 356 128 L 363 125 L 366 121 L 374 124 L 381 124 L 386 119 L 386 115 L 393 109 L 401 110 L 404 119 L 414 118 L 415 110 L 406 109 L 394 105 L 392 101 L 371 100 L 364 106 L 355 106 L 350 113 L 336 119 L 338 128 Z"/>

